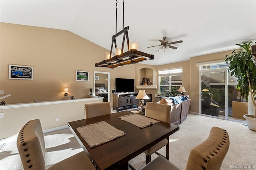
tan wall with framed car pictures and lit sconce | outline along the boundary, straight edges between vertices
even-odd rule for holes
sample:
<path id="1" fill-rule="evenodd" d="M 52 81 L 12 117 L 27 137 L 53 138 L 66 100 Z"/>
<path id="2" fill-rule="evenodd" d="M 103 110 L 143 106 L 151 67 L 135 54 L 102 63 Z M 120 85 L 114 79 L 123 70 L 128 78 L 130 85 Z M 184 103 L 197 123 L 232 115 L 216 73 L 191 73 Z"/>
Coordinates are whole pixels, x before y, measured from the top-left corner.
<path id="1" fill-rule="evenodd" d="M 0 23 L 0 29 L 0 90 L 12 94 L 4 99 L 7 104 L 87 98 L 93 71 L 110 72 L 110 89 L 115 77 L 135 79 L 135 65 L 94 67 L 108 50 L 72 32 L 7 23 Z M 8 79 L 9 64 L 33 66 L 34 80 Z M 89 81 L 76 81 L 76 70 L 89 71 Z"/>

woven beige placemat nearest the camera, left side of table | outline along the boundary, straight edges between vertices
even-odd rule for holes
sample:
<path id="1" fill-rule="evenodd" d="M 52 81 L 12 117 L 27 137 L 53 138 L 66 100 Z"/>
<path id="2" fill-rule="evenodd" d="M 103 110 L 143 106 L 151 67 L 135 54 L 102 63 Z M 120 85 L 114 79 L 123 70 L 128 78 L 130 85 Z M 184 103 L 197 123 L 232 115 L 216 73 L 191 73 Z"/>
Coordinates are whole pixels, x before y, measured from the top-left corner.
<path id="1" fill-rule="evenodd" d="M 78 127 L 76 129 L 90 148 L 125 135 L 122 130 L 118 130 L 105 121 Z"/>

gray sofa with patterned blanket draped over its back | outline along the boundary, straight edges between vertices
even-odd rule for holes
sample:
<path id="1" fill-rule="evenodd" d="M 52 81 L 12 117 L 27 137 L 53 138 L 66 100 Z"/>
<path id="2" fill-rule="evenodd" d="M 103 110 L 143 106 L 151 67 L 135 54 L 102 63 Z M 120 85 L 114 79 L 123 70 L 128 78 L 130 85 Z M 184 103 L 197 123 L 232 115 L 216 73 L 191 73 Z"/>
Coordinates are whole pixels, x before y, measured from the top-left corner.
<path id="1" fill-rule="evenodd" d="M 174 125 L 180 125 L 182 122 L 184 122 L 187 119 L 190 101 L 191 99 L 187 99 L 185 101 L 182 101 L 182 103 L 175 105 L 173 102 L 172 103 L 168 102 L 168 99 L 161 99 L 161 101 L 159 101 L 158 103 L 163 105 L 170 105 L 171 107 L 170 123 Z"/>

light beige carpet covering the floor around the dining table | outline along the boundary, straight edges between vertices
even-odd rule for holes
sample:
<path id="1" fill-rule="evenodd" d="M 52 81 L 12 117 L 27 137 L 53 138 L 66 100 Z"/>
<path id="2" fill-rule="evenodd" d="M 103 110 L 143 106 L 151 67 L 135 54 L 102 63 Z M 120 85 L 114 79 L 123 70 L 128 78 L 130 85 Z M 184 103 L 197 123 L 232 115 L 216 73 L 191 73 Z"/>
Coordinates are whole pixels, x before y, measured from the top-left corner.
<path id="1" fill-rule="evenodd" d="M 256 132 L 241 123 L 192 114 L 188 114 L 186 121 L 180 125 L 180 130 L 170 136 L 170 161 L 185 169 L 190 150 L 208 137 L 213 126 L 226 129 L 230 136 L 230 148 L 222 162 L 221 170 L 232 169 L 232 165 L 252 166 L 256 169 Z M 82 151 L 68 128 L 44 134 L 44 137 L 47 167 Z M 17 136 L 12 136 L 0 140 L 0 170 L 22 169 L 16 138 Z M 164 154 L 165 148 L 159 152 Z M 153 154 L 152 159 L 156 156 Z M 136 156 L 129 163 L 136 169 L 142 168 L 145 165 L 145 154 Z"/>

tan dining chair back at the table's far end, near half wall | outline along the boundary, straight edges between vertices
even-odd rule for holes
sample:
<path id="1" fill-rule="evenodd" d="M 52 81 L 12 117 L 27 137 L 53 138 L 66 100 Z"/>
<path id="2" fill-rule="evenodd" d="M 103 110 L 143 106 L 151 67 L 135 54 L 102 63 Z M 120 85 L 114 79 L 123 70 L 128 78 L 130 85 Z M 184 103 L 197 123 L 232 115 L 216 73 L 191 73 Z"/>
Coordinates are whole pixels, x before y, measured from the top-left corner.
<path id="1" fill-rule="evenodd" d="M 85 119 L 111 113 L 110 102 L 90 103 L 84 105 Z"/>

